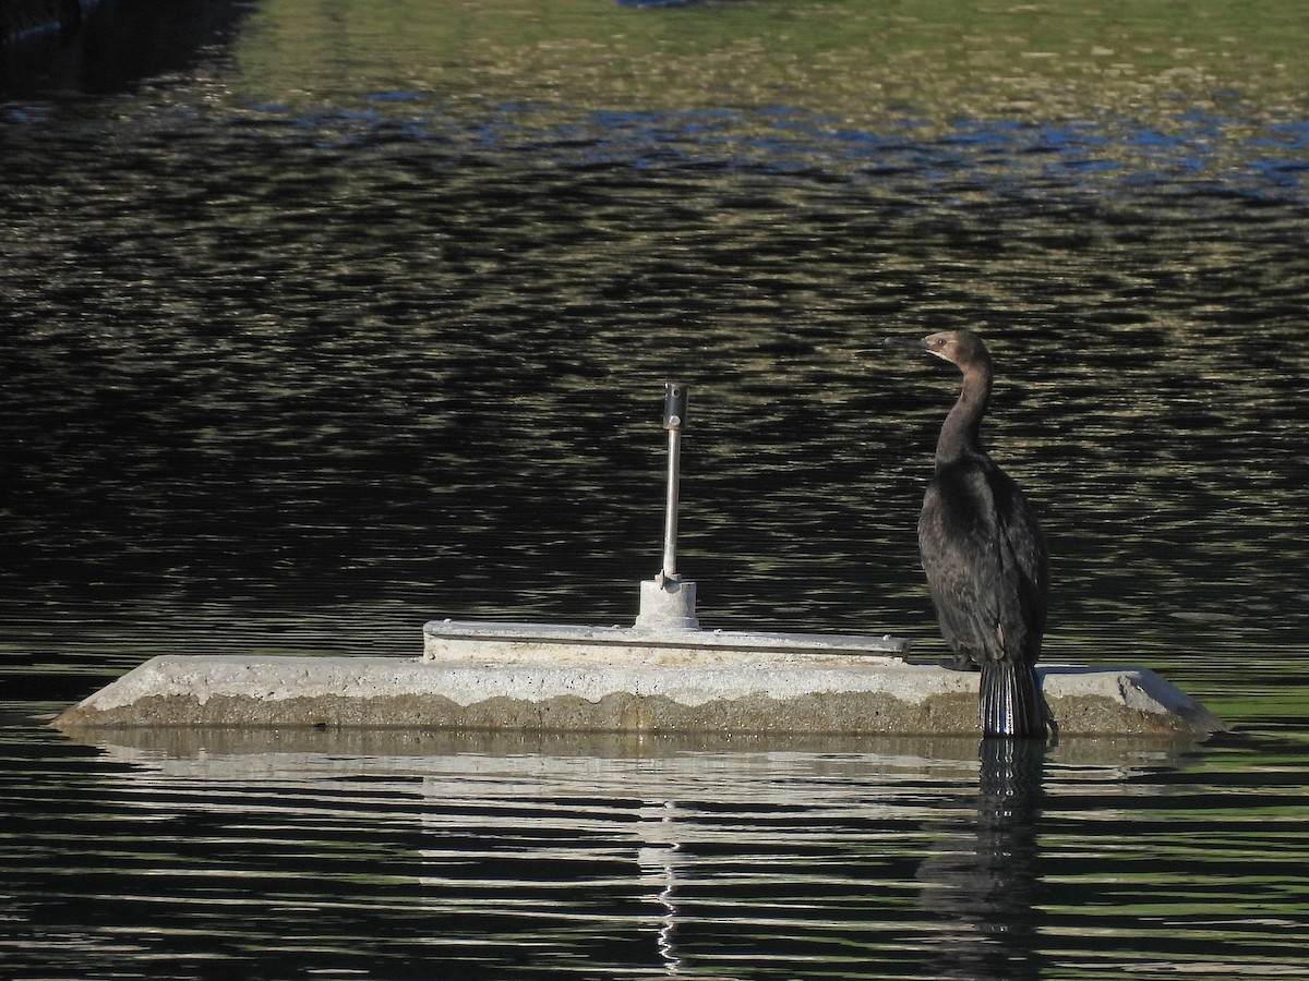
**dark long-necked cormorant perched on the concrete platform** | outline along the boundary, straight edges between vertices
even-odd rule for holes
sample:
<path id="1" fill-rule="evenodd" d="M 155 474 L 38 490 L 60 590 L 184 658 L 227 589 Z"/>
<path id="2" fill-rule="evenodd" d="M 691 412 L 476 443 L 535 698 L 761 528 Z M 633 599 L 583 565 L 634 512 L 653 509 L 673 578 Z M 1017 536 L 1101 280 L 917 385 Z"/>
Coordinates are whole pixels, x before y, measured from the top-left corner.
<path id="1" fill-rule="evenodd" d="M 1034 666 L 1046 628 L 1050 559 L 1031 505 L 982 449 L 991 356 L 969 331 L 933 334 L 922 345 L 963 371 L 918 522 L 941 633 L 954 650 L 954 667 L 982 670 L 982 731 L 1043 736 Z"/>

